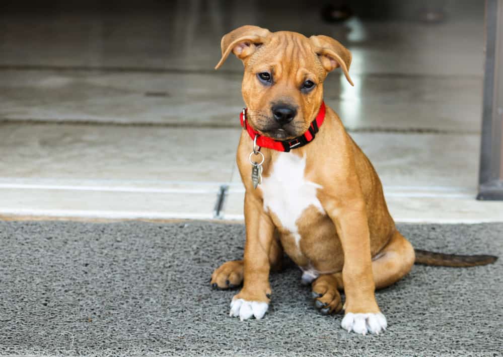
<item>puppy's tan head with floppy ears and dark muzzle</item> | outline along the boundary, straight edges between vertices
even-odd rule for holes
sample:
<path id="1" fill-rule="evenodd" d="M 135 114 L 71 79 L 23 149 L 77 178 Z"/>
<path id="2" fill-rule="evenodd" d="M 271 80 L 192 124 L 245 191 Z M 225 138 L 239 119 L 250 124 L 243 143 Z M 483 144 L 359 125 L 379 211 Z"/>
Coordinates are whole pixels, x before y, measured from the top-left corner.
<path id="1" fill-rule="evenodd" d="M 323 100 L 323 81 L 341 67 L 348 70 L 351 52 L 328 36 L 269 32 L 240 27 L 222 38 L 219 68 L 233 52 L 243 61 L 243 99 L 247 120 L 263 135 L 286 140 L 304 134 Z"/>

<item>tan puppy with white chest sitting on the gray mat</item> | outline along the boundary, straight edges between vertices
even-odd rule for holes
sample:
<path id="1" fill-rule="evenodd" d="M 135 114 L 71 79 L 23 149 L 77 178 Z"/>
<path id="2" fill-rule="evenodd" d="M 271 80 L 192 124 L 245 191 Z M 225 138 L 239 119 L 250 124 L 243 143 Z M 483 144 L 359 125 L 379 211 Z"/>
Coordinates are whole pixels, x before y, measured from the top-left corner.
<path id="1" fill-rule="evenodd" d="M 244 64 L 242 94 L 246 124 L 259 136 L 290 140 L 309 131 L 323 103 L 323 81 L 340 67 L 348 74 L 351 53 L 327 36 L 307 38 L 243 26 L 222 38 L 220 67 L 233 52 Z M 290 152 L 262 147 L 262 181 L 254 188 L 252 161 L 260 161 L 253 139 L 243 130 L 237 163 L 246 188 L 246 245 L 243 260 L 229 261 L 211 277 L 213 287 L 240 285 L 231 316 L 262 318 L 271 289 L 269 271 L 283 250 L 312 282 L 315 306 L 324 314 L 344 309 L 348 331 L 380 333 L 386 318 L 374 291 L 407 274 L 414 249 L 395 228 L 379 177 L 326 107 L 322 126 L 307 145 Z M 418 262 L 443 265 L 426 253 Z M 484 261 L 487 263 L 488 261 Z M 447 265 L 474 265 L 459 263 Z M 345 292 L 344 306 L 339 290 Z"/>

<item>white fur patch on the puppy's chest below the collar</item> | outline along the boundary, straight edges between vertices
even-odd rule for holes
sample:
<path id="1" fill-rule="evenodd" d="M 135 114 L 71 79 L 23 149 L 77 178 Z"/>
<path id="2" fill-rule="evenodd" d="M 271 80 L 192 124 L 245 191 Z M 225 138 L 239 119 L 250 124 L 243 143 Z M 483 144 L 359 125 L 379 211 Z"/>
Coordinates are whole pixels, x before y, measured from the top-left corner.
<path id="1" fill-rule="evenodd" d="M 323 212 L 316 197 L 316 190 L 322 186 L 305 180 L 305 168 L 306 158 L 292 153 L 279 153 L 271 175 L 264 177 L 259 186 L 263 192 L 264 209 L 269 209 L 277 216 L 281 225 L 292 232 L 297 243 L 301 237 L 296 222 L 302 212 L 310 205 Z"/>

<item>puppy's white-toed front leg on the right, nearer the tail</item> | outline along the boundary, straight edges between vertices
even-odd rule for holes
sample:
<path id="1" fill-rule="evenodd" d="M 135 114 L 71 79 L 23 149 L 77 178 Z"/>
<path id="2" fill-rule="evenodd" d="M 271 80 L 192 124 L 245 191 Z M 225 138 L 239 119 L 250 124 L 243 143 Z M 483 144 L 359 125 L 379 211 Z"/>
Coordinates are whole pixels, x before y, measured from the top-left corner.
<path id="1" fill-rule="evenodd" d="M 374 294 L 365 201 L 356 197 L 344 200 L 327 199 L 323 203 L 335 224 L 344 252 L 342 281 L 346 301 L 341 326 L 348 332 L 353 330 L 364 335 L 367 332 L 378 334 L 386 329 L 387 322 L 377 306 Z"/>

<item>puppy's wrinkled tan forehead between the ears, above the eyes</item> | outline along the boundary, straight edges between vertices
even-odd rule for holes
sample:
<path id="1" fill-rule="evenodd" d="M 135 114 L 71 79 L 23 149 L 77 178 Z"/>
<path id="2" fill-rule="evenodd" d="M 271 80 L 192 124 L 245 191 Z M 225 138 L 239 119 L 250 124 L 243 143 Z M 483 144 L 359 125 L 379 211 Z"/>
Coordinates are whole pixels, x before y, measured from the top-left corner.
<path id="1" fill-rule="evenodd" d="M 271 72 L 277 79 L 308 74 L 319 79 L 325 77 L 325 70 L 309 39 L 288 31 L 273 32 L 267 43 L 255 51 L 246 67 L 251 72 Z"/>

